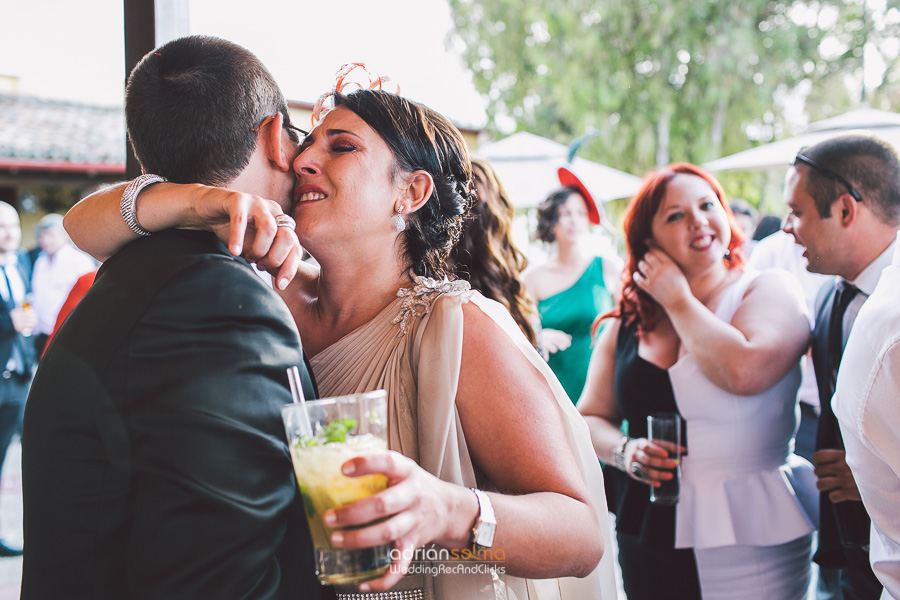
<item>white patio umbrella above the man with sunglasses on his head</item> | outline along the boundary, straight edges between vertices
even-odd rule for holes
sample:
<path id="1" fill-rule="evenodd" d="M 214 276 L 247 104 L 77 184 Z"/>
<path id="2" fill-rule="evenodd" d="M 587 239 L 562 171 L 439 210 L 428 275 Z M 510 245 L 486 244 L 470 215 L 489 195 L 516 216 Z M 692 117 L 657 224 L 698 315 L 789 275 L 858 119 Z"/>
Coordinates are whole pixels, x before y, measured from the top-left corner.
<path id="1" fill-rule="evenodd" d="M 861 131 L 900 149 L 900 114 L 860 108 L 810 124 L 805 133 L 716 159 L 703 165 L 709 171 L 785 168 L 800 148 L 842 133 Z"/>

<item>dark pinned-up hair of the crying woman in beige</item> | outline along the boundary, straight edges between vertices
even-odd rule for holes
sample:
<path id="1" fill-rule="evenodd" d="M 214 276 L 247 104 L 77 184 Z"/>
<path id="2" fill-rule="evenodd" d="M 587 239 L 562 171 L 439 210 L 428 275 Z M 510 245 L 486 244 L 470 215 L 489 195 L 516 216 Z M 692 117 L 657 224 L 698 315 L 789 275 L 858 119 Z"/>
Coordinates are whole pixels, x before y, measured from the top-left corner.
<path id="1" fill-rule="evenodd" d="M 381 90 L 335 93 L 334 105 L 353 111 L 394 154 L 394 176 L 425 171 L 434 191 L 407 215 L 399 236 L 406 268 L 413 275 L 443 278 L 447 256 L 459 239 L 463 216 L 473 202 L 472 164 L 466 142 L 450 121 L 430 108 Z"/>

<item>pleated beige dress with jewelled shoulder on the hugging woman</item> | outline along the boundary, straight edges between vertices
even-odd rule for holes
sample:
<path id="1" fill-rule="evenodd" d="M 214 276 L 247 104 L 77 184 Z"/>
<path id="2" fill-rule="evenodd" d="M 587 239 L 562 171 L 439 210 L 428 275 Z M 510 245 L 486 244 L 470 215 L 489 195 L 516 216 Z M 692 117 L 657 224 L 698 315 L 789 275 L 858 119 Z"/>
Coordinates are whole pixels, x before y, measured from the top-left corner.
<path id="1" fill-rule="evenodd" d="M 436 600 L 614 600 L 603 475 L 587 425 L 501 304 L 469 290 L 466 282 L 418 277 L 414 288 L 400 290 L 397 300 L 375 319 L 312 358 L 319 394 L 324 398 L 387 390 L 390 449 L 444 481 L 494 489 L 472 464 L 455 403 L 462 355 L 462 305 L 468 302 L 497 323 L 546 378 L 564 416 L 568 443 L 590 491 L 606 550 L 597 569 L 584 578 L 526 580 L 490 572 L 445 572 L 409 576 L 398 588 L 421 588 L 424 597 Z M 498 528 L 503 526 L 498 524 Z"/>

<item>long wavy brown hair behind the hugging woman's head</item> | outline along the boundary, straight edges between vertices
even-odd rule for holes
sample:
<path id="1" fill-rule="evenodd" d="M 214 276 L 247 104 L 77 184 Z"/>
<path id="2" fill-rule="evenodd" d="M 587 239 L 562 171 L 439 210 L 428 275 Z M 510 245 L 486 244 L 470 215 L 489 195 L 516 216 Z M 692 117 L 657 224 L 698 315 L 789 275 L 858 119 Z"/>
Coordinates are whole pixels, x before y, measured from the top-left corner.
<path id="1" fill-rule="evenodd" d="M 477 197 L 459 242 L 450 252 L 450 266 L 474 289 L 505 306 L 525 337 L 536 346 L 532 323 L 539 317 L 521 279 L 528 259 L 511 237 L 513 206 L 487 161 L 473 158 L 472 171 Z"/>

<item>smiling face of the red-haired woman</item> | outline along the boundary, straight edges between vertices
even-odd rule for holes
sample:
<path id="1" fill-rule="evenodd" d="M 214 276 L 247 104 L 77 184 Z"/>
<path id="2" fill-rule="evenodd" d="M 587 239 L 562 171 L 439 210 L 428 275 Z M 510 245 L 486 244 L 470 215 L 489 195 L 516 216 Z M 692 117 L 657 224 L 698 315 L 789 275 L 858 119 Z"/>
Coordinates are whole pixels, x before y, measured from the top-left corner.
<path id="1" fill-rule="evenodd" d="M 731 228 L 719 198 L 700 177 L 678 174 L 669 181 L 653 216 L 653 242 L 685 272 L 721 263 Z"/>

